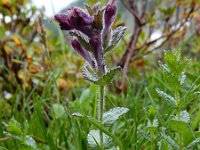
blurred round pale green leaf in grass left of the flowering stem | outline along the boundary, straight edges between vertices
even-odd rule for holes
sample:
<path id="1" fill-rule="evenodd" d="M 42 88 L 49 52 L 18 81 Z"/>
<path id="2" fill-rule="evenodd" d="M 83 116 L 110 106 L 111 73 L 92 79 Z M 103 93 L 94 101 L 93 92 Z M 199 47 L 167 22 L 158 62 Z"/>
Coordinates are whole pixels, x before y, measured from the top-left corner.
<path id="1" fill-rule="evenodd" d="M 66 112 L 65 112 L 65 108 L 63 105 L 61 104 L 53 104 L 53 113 L 56 119 L 62 118 Z"/>

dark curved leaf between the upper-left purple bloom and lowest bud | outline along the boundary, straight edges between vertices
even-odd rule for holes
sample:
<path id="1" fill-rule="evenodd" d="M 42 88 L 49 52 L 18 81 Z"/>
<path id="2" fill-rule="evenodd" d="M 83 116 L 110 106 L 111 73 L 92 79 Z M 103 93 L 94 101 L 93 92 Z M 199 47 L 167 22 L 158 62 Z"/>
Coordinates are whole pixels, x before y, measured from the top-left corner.
<path id="1" fill-rule="evenodd" d="M 82 34 L 81 32 L 79 31 L 70 31 L 69 32 L 71 36 L 75 36 L 78 41 L 81 43 L 81 45 L 89 52 L 92 51 L 92 48 L 90 47 L 90 44 L 89 44 L 89 40 L 88 38 Z"/>

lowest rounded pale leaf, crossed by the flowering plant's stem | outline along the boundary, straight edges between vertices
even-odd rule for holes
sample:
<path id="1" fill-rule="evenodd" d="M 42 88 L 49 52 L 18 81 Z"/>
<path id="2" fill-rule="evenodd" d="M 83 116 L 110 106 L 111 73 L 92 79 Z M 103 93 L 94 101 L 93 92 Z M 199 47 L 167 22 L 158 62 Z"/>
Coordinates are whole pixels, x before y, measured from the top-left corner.
<path id="1" fill-rule="evenodd" d="M 100 131 L 91 130 L 87 136 L 87 141 L 92 149 L 96 149 L 100 146 Z M 112 146 L 112 139 L 103 133 L 103 147 L 110 148 Z"/>

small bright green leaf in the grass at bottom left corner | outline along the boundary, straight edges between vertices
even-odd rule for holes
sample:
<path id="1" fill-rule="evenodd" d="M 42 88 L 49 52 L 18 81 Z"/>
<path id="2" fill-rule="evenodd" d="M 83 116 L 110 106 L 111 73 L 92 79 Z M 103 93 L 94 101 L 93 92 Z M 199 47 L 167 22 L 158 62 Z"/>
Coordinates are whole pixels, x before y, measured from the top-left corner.
<path id="1" fill-rule="evenodd" d="M 22 135 L 21 125 L 20 125 L 19 122 L 17 122 L 17 121 L 15 120 L 15 118 L 12 118 L 12 119 L 10 120 L 10 122 L 8 123 L 6 129 L 7 129 L 7 131 L 8 131 L 9 133 L 11 133 L 11 134 L 13 134 L 13 135 L 18 135 L 18 136 Z"/>

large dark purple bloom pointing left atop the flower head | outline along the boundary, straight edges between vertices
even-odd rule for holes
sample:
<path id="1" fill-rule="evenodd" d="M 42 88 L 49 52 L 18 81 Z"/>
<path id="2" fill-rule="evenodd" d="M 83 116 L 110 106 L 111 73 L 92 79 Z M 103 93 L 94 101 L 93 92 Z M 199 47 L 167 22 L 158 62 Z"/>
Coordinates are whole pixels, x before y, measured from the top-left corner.
<path id="1" fill-rule="evenodd" d="M 62 30 L 76 29 L 89 37 L 92 35 L 93 16 L 79 8 L 72 7 L 67 14 L 55 15 L 54 19 L 59 23 Z"/>

